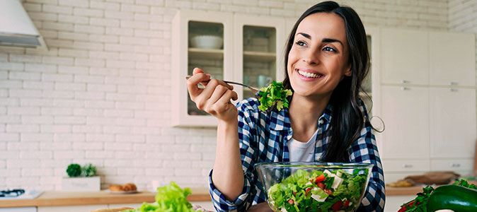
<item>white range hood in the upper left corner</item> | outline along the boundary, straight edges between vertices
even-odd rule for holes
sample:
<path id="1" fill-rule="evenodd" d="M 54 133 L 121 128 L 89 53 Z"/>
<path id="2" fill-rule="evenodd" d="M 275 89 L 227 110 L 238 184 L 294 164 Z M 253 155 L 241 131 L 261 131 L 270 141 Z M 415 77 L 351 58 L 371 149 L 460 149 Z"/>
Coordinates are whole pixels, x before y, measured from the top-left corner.
<path id="1" fill-rule="evenodd" d="M 0 0 L 0 45 L 46 48 L 45 40 L 18 0 Z"/>

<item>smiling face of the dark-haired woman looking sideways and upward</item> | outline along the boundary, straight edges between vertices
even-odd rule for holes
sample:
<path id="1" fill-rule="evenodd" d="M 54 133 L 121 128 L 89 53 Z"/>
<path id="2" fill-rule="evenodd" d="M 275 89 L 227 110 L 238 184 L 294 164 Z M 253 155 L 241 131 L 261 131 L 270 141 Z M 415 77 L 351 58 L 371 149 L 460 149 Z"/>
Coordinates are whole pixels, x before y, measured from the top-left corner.
<path id="1" fill-rule="evenodd" d="M 345 23 L 335 13 L 314 13 L 299 23 L 288 54 L 294 95 L 330 95 L 351 76 Z"/>

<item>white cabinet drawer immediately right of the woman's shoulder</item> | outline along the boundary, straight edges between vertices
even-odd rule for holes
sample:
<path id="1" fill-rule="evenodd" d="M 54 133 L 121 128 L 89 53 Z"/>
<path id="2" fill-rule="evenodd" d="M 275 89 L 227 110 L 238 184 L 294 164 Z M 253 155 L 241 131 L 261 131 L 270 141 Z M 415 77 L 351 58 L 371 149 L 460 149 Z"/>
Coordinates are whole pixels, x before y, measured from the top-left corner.
<path id="1" fill-rule="evenodd" d="M 429 160 L 383 160 L 384 172 L 427 172 Z"/>

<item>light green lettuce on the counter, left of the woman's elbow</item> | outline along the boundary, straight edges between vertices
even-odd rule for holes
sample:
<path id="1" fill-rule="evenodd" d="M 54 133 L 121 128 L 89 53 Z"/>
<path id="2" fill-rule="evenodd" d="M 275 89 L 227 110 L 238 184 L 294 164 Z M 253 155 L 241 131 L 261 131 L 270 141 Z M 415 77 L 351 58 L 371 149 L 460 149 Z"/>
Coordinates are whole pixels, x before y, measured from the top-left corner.
<path id="1" fill-rule="evenodd" d="M 196 212 L 192 210 L 192 204 L 186 200 L 192 194 L 189 188 L 180 189 L 176 182 L 157 188 L 156 202 L 144 202 L 141 207 L 122 212 Z"/>

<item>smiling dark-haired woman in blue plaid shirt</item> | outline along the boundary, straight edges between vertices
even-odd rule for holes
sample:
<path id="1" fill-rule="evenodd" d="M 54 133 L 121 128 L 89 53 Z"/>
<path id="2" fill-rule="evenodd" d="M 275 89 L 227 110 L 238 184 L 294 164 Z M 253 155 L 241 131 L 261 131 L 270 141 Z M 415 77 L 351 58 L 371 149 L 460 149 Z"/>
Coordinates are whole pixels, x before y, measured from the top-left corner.
<path id="1" fill-rule="evenodd" d="M 359 91 L 369 69 L 366 33 L 352 8 L 326 1 L 295 23 L 286 46 L 289 109 L 258 110 L 255 99 L 236 105 L 233 87 L 194 69 L 190 98 L 218 119 L 217 156 L 209 184 L 217 211 L 268 208 L 253 165 L 260 162 L 372 163 L 359 211 L 382 211 L 384 177 L 372 126 Z M 238 119 L 237 119 L 238 117 Z M 266 209 L 270 211 L 270 208 Z"/>

